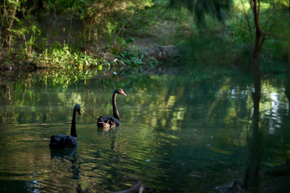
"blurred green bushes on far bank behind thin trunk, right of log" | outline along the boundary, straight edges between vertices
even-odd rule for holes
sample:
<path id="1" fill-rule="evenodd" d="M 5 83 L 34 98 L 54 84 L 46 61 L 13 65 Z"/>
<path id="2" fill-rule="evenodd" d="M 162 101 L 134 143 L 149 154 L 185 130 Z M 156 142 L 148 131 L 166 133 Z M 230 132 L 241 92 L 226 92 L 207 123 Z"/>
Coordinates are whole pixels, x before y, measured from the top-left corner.
<path id="1" fill-rule="evenodd" d="M 247 0 L 233 2 L 228 11 L 230 17 L 224 20 L 225 25 L 207 15 L 207 28 L 194 27 L 189 36 L 177 39 L 182 53 L 182 69 L 197 74 L 217 74 L 224 69 L 229 69 L 226 70 L 229 73 L 232 69 L 249 72 L 255 43 L 252 8 Z M 289 20 L 289 2 L 263 1 L 261 4 L 259 24 L 265 39 L 259 61 L 263 70 L 286 69 L 290 42 Z M 275 66 L 277 63 L 278 66 Z"/>

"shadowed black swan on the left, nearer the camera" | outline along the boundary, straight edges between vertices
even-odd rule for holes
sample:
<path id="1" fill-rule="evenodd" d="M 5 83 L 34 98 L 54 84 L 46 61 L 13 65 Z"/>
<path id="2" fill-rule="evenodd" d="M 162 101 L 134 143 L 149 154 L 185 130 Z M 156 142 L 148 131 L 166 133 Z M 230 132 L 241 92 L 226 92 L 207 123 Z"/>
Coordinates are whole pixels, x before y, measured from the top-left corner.
<path id="1" fill-rule="evenodd" d="M 51 147 L 51 148 L 66 148 L 66 147 L 78 146 L 78 142 L 75 138 L 75 137 L 77 137 L 76 128 L 75 128 L 75 114 L 76 114 L 76 112 L 79 115 L 81 115 L 80 106 L 77 104 L 74 106 L 73 113 L 72 113 L 71 135 L 64 135 L 64 134 L 52 135 L 50 138 L 49 147 Z"/>

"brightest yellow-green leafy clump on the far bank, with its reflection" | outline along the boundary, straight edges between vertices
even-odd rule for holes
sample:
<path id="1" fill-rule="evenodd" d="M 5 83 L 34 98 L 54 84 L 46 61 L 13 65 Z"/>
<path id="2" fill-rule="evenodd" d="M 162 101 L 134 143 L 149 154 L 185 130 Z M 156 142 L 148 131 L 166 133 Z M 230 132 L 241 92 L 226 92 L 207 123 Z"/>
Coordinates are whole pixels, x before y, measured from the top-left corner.
<path id="1" fill-rule="evenodd" d="M 103 68 L 103 63 L 86 53 L 75 53 L 65 45 L 63 49 L 44 51 L 38 57 L 38 62 L 47 65 L 47 71 L 42 71 L 40 79 L 44 82 L 68 85 L 78 79 L 86 80 L 96 75 Z M 43 66 L 45 67 L 45 66 Z"/>

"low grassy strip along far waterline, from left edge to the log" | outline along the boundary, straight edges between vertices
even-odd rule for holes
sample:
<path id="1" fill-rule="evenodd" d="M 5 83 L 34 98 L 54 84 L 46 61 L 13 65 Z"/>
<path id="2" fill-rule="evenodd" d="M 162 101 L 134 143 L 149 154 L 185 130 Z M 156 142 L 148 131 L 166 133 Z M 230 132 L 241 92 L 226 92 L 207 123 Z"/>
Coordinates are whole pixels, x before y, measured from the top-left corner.
<path id="1" fill-rule="evenodd" d="M 137 73 L 157 63 L 144 50 L 135 47 L 123 48 L 114 54 L 111 50 L 88 55 L 87 52 L 73 51 L 68 45 L 64 45 L 63 48 L 47 49 L 42 53 L 29 53 L 25 50 L 10 52 L 2 60 L 1 79 L 13 75 L 9 71 L 28 71 L 37 72 L 33 73 L 35 77 L 30 79 L 32 81 L 68 85 L 77 80 L 86 81 L 96 75 Z M 4 71 L 8 73 L 3 73 Z"/>

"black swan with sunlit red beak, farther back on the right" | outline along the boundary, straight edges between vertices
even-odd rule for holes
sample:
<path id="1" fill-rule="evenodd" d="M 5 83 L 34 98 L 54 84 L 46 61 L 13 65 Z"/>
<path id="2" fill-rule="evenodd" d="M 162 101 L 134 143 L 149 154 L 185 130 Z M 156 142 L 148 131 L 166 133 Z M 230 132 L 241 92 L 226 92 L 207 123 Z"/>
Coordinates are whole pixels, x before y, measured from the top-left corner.
<path id="1" fill-rule="evenodd" d="M 120 117 L 119 117 L 119 113 L 118 113 L 118 109 L 117 109 L 117 104 L 116 104 L 117 94 L 123 94 L 123 95 L 127 96 L 121 88 L 118 88 L 114 91 L 113 97 L 112 97 L 114 117 L 110 117 L 110 116 L 102 117 L 102 116 L 100 116 L 98 119 L 98 123 L 97 123 L 98 127 L 100 127 L 100 128 L 105 128 L 105 127 L 114 128 L 114 127 L 119 127 L 121 125 Z"/>

